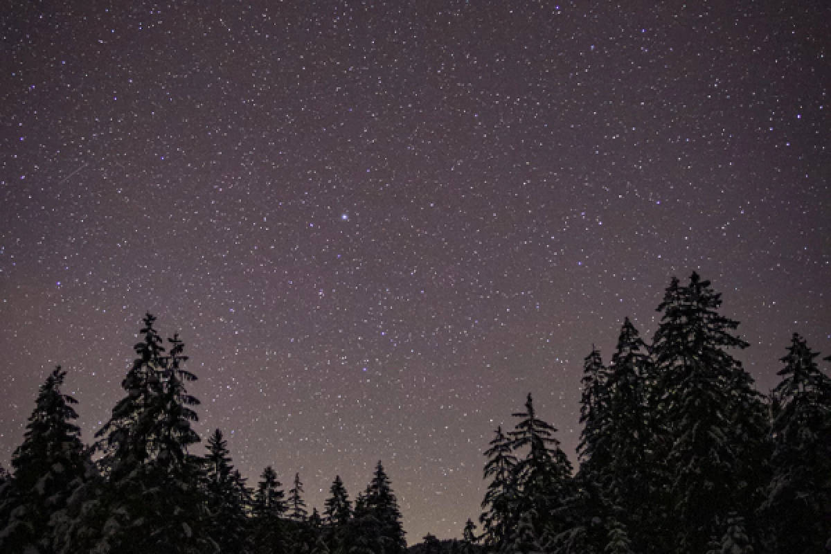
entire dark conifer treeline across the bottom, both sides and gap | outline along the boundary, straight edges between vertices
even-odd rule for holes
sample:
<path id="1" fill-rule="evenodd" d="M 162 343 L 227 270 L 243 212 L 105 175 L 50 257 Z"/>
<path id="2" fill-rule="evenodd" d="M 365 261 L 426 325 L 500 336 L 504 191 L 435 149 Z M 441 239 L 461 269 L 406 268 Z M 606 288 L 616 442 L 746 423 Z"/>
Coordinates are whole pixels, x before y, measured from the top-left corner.
<path id="1" fill-rule="evenodd" d="M 428 534 L 412 554 L 820 554 L 831 552 L 831 379 L 794 333 L 769 395 L 731 351 L 748 346 L 696 273 L 673 278 L 652 343 L 622 325 L 608 365 L 583 365 L 578 468 L 531 395 L 485 451 L 480 534 Z M 263 469 L 234 468 L 219 429 L 196 456 L 199 404 L 145 317 L 125 396 L 87 447 L 58 367 L 41 386 L 12 472 L 0 468 L 0 552 L 403 554 L 381 462 L 354 503 L 340 477 L 323 512 Z M 831 357 L 826 358 L 831 360 Z"/>

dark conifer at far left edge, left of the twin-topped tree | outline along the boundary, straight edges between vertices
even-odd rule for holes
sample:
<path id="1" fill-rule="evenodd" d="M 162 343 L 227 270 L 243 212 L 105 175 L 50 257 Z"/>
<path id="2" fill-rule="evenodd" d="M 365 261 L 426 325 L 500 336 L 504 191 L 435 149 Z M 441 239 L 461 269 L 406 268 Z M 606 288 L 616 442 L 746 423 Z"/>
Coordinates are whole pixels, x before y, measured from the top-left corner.
<path id="1" fill-rule="evenodd" d="M 12 454 L 12 478 L 2 493 L 0 551 L 53 552 L 52 515 L 86 474 L 89 458 L 70 395 L 61 392 L 66 371 L 58 366 L 38 390 L 23 443 Z"/>

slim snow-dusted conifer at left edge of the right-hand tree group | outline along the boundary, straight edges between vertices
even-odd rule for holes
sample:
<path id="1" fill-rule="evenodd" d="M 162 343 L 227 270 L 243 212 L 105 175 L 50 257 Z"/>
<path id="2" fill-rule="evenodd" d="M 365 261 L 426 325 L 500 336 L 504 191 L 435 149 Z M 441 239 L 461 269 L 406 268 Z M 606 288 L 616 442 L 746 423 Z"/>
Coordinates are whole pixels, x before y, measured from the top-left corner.
<path id="1" fill-rule="evenodd" d="M 479 522 L 482 524 L 484 546 L 499 551 L 508 537 L 513 507 L 519 497 L 514 472 L 517 458 L 501 425 L 496 428 L 496 436 L 489 446 L 484 452 L 488 457 L 488 462 L 484 465 L 484 478 L 490 478 L 490 483 L 482 500 L 484 512 L 479 516 Z"/>

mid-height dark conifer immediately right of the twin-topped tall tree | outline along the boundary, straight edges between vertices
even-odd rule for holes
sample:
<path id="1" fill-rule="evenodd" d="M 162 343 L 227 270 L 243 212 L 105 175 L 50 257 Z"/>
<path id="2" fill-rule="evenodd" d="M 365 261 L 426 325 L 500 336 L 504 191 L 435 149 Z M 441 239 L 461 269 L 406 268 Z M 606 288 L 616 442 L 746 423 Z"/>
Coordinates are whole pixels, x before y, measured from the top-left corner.
<path id="1" fill-rule="evenodd" d="M 226 441 L 219 429 L 208 439 L 205 456 L 205 490 L 209 512 L 209 537 L 223 554 L 248 552 L 250 492 L 245 479 L 234 469 Z"/>

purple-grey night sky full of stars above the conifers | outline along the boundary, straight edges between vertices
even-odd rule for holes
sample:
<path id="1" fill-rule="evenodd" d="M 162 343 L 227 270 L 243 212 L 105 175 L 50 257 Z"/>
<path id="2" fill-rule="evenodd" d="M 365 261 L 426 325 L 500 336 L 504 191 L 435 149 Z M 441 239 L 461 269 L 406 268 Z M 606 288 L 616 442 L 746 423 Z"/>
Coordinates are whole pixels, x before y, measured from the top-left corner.
<path id="1" fill-rule="evenodd" d="M 672 275 L 760 390 L 831 354 L 828 2 L 3 2 L 0 462 L 56 364 L 91 440 L 145 311 L 249 483 L 381 458 L 409 542 L 479 514 L 534 393 Z"/>

